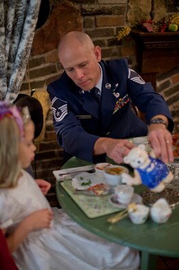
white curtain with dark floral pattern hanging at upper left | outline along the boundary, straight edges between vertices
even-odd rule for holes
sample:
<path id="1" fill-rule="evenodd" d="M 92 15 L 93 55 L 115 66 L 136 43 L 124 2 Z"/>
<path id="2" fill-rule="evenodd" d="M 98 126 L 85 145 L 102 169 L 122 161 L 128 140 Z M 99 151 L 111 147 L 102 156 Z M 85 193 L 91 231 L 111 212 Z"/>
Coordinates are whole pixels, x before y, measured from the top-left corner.
<path id="1" fill-rule="evenodd" d="M 0 0 L 0 100 L 12 103 L 25 75 L 41 0 Z"/>

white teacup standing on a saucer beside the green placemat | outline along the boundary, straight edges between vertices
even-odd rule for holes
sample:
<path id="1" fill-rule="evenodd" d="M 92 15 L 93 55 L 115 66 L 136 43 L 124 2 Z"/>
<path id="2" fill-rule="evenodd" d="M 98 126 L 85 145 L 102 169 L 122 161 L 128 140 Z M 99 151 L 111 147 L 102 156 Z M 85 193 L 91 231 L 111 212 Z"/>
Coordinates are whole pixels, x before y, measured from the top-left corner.
<path id="1" fill-rule="evenodd" d="M 134 188 L 133 186 L 127 186 L 126 184 L 118 185 L 114 188 L 116 199 L 120 204 L 129 204 L 133 194 Z"/>

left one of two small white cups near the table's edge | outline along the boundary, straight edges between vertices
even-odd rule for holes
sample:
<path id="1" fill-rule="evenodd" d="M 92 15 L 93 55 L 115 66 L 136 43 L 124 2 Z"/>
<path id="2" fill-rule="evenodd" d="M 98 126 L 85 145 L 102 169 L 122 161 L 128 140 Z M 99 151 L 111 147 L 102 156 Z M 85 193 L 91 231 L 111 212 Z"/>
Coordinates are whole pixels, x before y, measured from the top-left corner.
<path id="1" fill-rule="evenodd" d="M 143 224 L 148 219 L 150 208 L 143 204 L 136 204 L 137 210 L 129 212 L 130 220 L 135 224 Z"/>

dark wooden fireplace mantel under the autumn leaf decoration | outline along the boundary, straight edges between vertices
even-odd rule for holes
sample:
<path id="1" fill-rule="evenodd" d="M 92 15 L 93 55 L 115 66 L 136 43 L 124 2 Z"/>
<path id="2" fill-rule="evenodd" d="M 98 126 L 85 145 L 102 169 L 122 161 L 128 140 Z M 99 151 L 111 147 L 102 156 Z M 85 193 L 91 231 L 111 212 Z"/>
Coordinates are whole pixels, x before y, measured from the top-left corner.
<path id="1" fill-rule="evenodd" d="M 132 29 L 137 47 L 138 72 L 155 87 L 156 73 L 179 65 L 179 32 L 146 33 Z"/>

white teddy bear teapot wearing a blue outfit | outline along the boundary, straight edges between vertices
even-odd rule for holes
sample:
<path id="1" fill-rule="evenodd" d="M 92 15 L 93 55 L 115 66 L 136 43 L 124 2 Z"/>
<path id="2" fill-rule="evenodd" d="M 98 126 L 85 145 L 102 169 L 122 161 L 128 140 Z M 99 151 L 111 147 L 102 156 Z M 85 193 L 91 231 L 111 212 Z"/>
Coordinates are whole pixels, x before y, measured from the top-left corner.
<path id="1" fill-rule="evenodd" d="M 134 176 L 122 173 L 122 183 L 129 186 L 143 184 L 150 188 L 150 191 L 161 192 L 165 184 L 173 180 L 174 175 L 167 169 L 165 163 L 154 158 L 154 153 L 148 154 L 145 145 L 138 145 L 131 149 L 124 162 L 130 164 L 134 169 Z"/>

